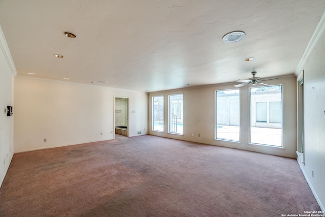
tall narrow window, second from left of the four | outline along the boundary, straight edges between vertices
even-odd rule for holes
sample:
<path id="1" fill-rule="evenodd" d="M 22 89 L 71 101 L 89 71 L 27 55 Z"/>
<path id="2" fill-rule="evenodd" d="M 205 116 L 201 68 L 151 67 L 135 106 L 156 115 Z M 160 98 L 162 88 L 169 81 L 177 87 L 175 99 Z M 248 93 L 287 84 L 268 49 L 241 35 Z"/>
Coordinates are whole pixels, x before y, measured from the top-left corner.
<path id="1" fill-rule="evenodd" d="M 183 134 L 183 94 L 169 95 L 169 133 Z"/>

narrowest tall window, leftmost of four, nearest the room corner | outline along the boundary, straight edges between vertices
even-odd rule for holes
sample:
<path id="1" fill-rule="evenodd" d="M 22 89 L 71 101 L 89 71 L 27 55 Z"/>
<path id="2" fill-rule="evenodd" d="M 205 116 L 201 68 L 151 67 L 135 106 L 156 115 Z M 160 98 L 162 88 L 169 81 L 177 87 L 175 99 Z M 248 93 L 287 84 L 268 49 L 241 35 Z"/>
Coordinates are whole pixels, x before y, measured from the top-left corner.
<path id="1" fill-rule="evenodd" d="M 164 96 L 152 97 L 152 130 L 164 132 Z"/>

